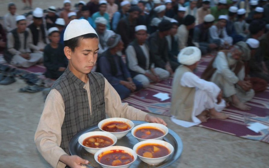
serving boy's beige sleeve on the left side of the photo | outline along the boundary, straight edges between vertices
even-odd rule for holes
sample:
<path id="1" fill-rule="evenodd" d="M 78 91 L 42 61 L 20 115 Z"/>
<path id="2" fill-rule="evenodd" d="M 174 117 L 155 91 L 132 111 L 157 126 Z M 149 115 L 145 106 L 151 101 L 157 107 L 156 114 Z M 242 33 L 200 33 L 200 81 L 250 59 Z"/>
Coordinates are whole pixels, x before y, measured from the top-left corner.
<path id="1" fill-rule="evenodd" d="M 45 101 L 34 142 L 42 157 L 54 168 L 65 167 L 64 163 L 59 161 L 60 157 L 66 154 L 60 147 L 64 115 L 64 100 L 56 89 L 52 89 Z"/>

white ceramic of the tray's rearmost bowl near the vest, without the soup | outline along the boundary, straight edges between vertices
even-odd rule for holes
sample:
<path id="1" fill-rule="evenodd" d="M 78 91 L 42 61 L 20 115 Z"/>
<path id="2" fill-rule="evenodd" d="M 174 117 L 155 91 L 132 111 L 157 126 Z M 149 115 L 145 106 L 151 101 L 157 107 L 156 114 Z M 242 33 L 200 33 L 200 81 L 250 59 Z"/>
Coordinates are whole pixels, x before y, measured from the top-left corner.
<path id="1" fill-rule="evenodd" d="M 123 123 L 126 123 L 126 124 L 130 125 L 130 127 L 131 127 L 130 129 L 128 129 L 128 130 L 126 130 L 126 131 L 123 131 L 123 132 L 109 132 L 109 133 L 115 135 L 118 139 L 120 139 L 120 138 L 124 137 L 125 135 L 127 135 L 128 132 L 129 132 L 129 131 L 133 128 L 133 126 L 134 126 L 133 122 L 132 122 L 131 120 L 129 120 L 129 119 L 116 118 L 116 117 L 115 117 L 115 118 L 108 118 L 108 119 L 104 119 L 104 120 L 100 121 L 100 122 L 98 123 L 98 128 L 99 128 L 100 130 L 102 130 L 102 127 L 103 127 L 104 125 L 106 125 L 108 122 L 112 122 L 112 121 L 123 122 Z M 104 131 L 104 130 L 102 130 L 102 131 Z M 107 132 L 107 131 L 104 131 L 104 132 Z"/>

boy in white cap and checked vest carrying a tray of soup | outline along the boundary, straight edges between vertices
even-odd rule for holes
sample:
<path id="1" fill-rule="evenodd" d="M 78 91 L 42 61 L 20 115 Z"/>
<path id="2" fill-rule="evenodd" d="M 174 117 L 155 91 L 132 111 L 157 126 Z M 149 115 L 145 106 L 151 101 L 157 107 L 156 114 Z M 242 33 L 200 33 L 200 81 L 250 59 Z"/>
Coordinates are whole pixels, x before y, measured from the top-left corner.
<path id="1" fill-rule="evenodd" d="M 121 103 L 103 75 L 91 71 L 97 60 L 98 36 L 87 21 L 73 20 L 67 25 L 64 46 L 68 67 L 51 87 L 34 137 L 38 151 L 54 168 L 89 163 L 68 155 L 68 143 L 77 132 L 105 119 L 105 113 L 166 125 L 162 119 Z"/>

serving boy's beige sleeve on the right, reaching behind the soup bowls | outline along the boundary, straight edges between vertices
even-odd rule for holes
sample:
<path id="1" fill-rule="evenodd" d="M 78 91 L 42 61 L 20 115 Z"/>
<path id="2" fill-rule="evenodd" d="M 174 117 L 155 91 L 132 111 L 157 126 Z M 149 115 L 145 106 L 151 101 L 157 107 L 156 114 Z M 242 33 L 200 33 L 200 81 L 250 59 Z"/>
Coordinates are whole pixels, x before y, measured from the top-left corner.
<path id="1" fill-rule="evenodd" d="M 105 79 L 105 106 L 109 117 L 121 117 L 130 120 L 145 121 L 147 113 L 122 103 L 117 91 Z"/>

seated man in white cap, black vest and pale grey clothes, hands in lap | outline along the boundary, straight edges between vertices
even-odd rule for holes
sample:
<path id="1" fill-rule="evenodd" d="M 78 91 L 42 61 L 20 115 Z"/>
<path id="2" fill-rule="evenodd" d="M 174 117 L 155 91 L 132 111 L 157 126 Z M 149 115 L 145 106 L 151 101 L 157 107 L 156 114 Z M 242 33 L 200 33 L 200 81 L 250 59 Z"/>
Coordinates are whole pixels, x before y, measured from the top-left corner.
<path id="1" fill-rule="evenodd" d="M 136 39 L 126 49 L 127 65 L 132 78 L 148 87 L 150 82 L 157 83 L 169 77 L 169 72 L 152 66 L 147 45 L 147 28 L 144 25 L 135 27 Z"/>

